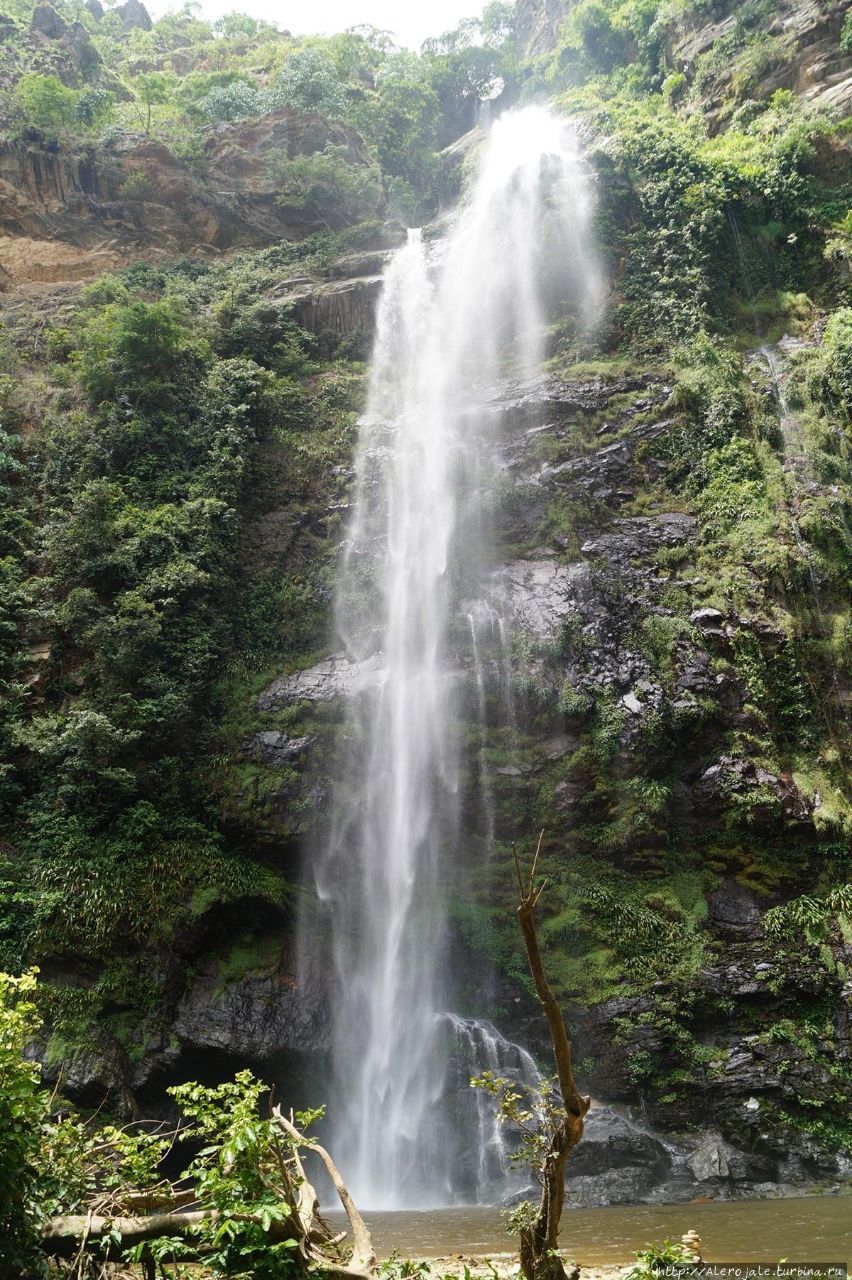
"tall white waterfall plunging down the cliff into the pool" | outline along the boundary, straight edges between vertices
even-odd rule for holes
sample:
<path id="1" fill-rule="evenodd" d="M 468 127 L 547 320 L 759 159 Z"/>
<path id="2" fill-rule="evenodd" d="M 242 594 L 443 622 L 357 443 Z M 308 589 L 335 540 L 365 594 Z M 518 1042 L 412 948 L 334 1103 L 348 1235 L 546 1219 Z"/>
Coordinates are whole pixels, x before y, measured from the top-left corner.
<path id="1" fill-rule="evenodd" d="M 587 311 L 588 215 L 565 122 L 507 114 L 448 233 L 411 232 L 386 271 L 336 585 L 349 716 L 316 869 L 336 970 L 331 1140 L 368 1208 L 458 1194 L 443 890 L 459 852 L 461 602 L 489 562 L 484 406 L 498 379 L 537 371 L 548 306 Z"/>

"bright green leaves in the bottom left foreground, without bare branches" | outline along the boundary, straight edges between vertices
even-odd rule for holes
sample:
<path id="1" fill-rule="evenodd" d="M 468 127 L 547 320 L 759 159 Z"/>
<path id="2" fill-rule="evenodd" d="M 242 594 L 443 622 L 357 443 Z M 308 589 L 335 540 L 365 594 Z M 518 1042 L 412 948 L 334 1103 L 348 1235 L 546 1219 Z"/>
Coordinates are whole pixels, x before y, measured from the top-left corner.
<path id="1" fill-rule="evenodd" d="M 9 1275 L 47 1274 L 38 1240 L 49 1217 L 120 1217 L 141 1196 L 166 1204 L 173 1198 L 162 1166 L 174 1133 L 145 1124 L 93 1128 L 67 1106 L 54 1108 L 38 1064 L 23 1056 L 40 1025 L 35 991 L 35 970 L 20 978 L 0 973 L 0 1266 Z M 270 1231 L 292 1212 L 285 1196 L 292 1181 L 281 1175 L 293 1140 L 262 1115 L 266 1085 L 241 1071 L 214 1088 L 191 1082 L 170 1092 L 188 1121 L 179 1135 L 197 1152 L 182 1178 L 207 1216 L 188 1236 L 152 1242 L 154 1257 L 202 1248 L 205 1274 L 290 1275 L 297 1242 Z M 321 1115 L 298 1112 L 296 1123 L 303 1133 Z M 120 1249 L 119 1234 L 109 1239 Z M 133 1262 L 147 1256 L 145 1245 L 125 1254 Z"/>

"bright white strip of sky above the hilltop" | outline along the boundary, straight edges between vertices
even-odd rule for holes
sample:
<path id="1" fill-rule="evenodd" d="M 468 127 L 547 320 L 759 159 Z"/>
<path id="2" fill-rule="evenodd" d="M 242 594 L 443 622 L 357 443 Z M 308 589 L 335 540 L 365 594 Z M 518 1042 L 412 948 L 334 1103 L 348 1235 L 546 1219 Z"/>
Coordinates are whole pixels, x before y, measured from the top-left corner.
<path id="1" fill-rule="evenodd" d="M 238 9 L 266 18 L 294 36 L 333 35 L 358 23 L 391 31 L 397 42 L 417 49 L 427 36 L 441 36 L 461 18 L 478 17 L 486 0 L 201 0 L 201 17 L 214 20 Z M 155 18 L 179 8 L 169 0 L 150 0 Z"/>

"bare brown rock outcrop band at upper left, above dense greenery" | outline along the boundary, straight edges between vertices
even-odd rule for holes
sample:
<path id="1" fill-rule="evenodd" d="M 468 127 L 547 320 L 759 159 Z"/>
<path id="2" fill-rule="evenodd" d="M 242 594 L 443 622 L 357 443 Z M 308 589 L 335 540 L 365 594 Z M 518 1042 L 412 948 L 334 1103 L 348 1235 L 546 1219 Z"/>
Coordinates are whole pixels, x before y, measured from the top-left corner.
<path id="1" fill-rule="evenodd" d="M 270 160 L 327 143 L 344 147 L 352 164 L 370 163 L 353 131 L 285 110 L 210 129 L 203 175 L 145 137 L 65 150 L 31 131 L 0 143 L 0 268 L 8 283 L 78 280 L 128 256 L 215 256 L 301 239 L 320 225 L 316 211 L 279 204 Z M 303 306 L 313 307 L 317 325 L 335 326 L 343 311 L 354 323 L 366 319 L 361 294 L 371 291 L 372 280 L 342 282 L 336 292 L 345 301 L 331 296 Z"/>

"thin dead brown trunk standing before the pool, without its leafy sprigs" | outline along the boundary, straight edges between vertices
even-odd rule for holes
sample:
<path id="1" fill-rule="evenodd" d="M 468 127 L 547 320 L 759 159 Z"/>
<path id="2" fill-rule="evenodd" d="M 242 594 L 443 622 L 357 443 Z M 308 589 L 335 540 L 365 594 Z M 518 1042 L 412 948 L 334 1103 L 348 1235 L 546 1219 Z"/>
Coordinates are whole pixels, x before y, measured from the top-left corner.
<path id="1" fill-rule="evenodd" d="M 571 1056 L 571 1041 L 568 1039 L 562 1010 L 550 989 L 539 947 L 535 910 L 546 886 L 546 881 L 540 887 L 536 886 L 536 868 L 539 865 L 542 838 L 544 832 L 539 836 L 539 845 L 532 859 L 530 879 L 526 886 L 517 849 L 513 850 L 521 892 L 518 924 L 523 934 L 523 945 L 527 951 L 530 973 L 536 987 L 536 995 L 548 1019 L 550 1042 L 556 1064 L 559 1093 L 565 1114 L 564 1119 L 553 1129 L 548 1152 L 541 1164 L 541 1198 L 536 1216 L 521 1231 L 521 1270 L 526 1280 L 564 1280 L 565 1271 L 556 1253 L 556 1238 L 565 1198 L 565 1162 L 583 1135 L 583 1123 L 591 1105 L 591 1098 L 582 1097 L 577 1089 Z"/>

